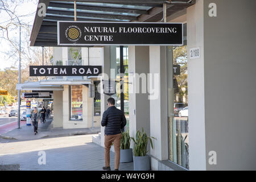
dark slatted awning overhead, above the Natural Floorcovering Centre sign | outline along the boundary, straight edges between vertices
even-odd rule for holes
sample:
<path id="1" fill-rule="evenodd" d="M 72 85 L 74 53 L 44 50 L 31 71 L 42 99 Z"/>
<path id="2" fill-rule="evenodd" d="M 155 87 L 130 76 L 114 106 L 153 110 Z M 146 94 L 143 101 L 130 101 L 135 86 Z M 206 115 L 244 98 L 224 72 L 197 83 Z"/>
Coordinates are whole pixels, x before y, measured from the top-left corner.
<path id="1" fill-rule="evenodd" d="M 176 0 L 187 2 L 188 0 Z M 162 19 L 163 0 L 80 0 L 77 4 L 77 21 L 104 21 L 104 22 L 157 22 Z M 57 21 L 73 21 L 74 2 L 71 0 L 50 1 L 39 0 L 45 3 L 46 16 L 39 16 L 38 10 L 30 37 L 30 46 L 57 47 Z M 168 5 L 167 15 L 176 13 L 193 5 L 180 3 Z M 154 12 L 154 14 L 151 12 Z M 156 13 L 157 12 L 157 13 Z M 143 20 L 140 17 L 143 16 Z M 146 19 L 144 17 L 147 17 Z"/>

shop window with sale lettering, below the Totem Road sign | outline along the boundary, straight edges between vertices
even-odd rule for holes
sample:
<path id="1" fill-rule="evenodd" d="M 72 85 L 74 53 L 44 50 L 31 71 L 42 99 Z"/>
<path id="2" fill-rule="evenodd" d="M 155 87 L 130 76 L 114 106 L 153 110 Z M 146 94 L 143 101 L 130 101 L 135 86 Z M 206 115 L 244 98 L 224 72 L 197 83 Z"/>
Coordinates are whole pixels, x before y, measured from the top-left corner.
<path id="1" fill-rule="evenodd" d="M 70 88 L 70 120 L 82 120 L 82 85 Z"/>

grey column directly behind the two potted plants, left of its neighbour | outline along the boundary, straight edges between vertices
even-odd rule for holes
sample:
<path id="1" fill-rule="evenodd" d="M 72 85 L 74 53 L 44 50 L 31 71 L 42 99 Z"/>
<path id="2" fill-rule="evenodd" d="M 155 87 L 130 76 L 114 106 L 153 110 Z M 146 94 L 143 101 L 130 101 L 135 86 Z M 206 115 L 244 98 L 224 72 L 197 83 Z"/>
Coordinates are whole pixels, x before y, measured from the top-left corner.
<path id="1" fill-rule="evenodd" d="M 149 73 L 149 47 L 129 46 L 129 73 Z M 135 137 L 138 130 L 144 129 L 150 135 L 150 100 L 148 93 L 135 93 L 136 88 L 142 88 L 141 79 L 129 77 L 129 129 L 130 135 Z M 142 89 L 140 89 L 142 90 Z M 135 114 L 134 114 L 135 110 Z M 133 142 L 132 142 L 133 143 Z M 150 146 L 148 146 L 150 150 Z"/>

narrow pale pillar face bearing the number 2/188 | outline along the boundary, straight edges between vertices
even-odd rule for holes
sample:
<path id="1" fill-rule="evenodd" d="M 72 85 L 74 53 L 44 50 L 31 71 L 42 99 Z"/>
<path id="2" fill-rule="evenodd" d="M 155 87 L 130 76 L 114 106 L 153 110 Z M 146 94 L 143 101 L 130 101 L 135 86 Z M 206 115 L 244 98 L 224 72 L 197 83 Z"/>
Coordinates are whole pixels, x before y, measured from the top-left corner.
<path id="1" fill-rule="evenodd" d="M 206 170 L 204 101 L 204 1 L 187 9 L 187 49 L 200 47 L 200 58 L 188 56 L 189 169 Z"/>

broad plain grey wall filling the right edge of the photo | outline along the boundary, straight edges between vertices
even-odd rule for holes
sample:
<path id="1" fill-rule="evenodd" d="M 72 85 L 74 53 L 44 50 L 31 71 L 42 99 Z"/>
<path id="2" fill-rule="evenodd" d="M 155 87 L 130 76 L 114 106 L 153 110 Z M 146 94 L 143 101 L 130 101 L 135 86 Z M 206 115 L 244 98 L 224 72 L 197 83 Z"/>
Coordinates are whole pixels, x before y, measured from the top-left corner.
<path id="1" fill-rule="evenodd" d="M 208 15 L 211 2 L 217 17 Z M 255 0 L 204 0 L 206 153 L 217 152 L 208 170 L 256 169 L 255 7 Z"/>

